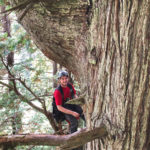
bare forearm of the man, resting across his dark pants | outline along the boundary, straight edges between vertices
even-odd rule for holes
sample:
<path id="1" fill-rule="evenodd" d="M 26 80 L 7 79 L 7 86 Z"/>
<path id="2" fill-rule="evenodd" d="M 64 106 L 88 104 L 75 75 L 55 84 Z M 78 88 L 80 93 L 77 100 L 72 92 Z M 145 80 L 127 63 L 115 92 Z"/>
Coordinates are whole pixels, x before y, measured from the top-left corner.
<path id="1" fill-rule="evenodd" d="M 64 108 L 63 106 L 61 105 L 57 105 L 57 109 L 65 114 L 69 114 L 69 115 L 72 115 L 76 118 L 78 118 L 80 116 L 80 114 L 78 114 L 77 112 L 75 111 L 72 111 L 72 110 L 69 110 L 69 109 L 66 109 Z"/>

